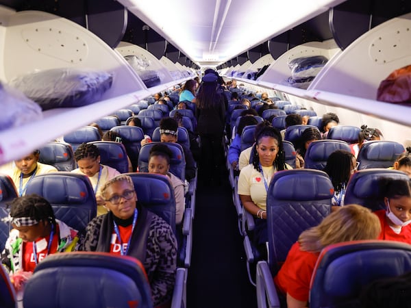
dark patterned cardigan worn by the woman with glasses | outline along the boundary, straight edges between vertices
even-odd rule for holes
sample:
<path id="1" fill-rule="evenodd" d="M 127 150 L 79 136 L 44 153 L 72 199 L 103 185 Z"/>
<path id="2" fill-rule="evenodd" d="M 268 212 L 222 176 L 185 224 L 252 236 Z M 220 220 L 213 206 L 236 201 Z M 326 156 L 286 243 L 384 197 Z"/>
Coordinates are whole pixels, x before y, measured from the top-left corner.
<path id="1" fill-rule="evenodd" d="M 91 220 L 78 250 L 109 252 L 113 226 L 111 212 Z M 138 207 L 136 229 L 127 255 L 136 257 L 144 266 L 154 306 L 170 300 L 177 268 L 177 240 L 170 225 L 144 207 Z"/>

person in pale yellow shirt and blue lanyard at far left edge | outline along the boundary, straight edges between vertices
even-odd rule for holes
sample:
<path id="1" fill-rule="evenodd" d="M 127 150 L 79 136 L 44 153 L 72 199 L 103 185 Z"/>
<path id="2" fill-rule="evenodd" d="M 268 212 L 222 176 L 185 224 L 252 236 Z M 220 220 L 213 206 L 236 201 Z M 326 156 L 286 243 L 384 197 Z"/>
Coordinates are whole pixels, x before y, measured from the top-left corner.
<path id="1" fill-rule="evenodd" d="M 16 185 L 18 196 L 25 195 L 27 184 L 33 177 L 36 177 L 36 175 L 58 172 L 58 170 L 51 165 L 39 163 L 39 158 L 40 151 L 36 150 L 21 159 L 15 160 L 14 167 L 8 170 L 9 173 L 7 173 L 7 175 L 12 178 L 14 185 Z"/>

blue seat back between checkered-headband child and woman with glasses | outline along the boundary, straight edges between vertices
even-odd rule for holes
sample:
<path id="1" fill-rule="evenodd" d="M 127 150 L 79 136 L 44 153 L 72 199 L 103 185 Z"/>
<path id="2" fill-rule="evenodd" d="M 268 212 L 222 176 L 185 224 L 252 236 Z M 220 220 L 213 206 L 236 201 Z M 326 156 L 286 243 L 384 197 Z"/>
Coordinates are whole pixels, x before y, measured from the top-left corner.
<path id="1" fill-rule="evenodd" d="M 27 185 L 26 194 L 38 194 L 53 207 L 55 218 L 77 231 L 97 215 L 95 192 L 86 175 L 53 172 L 38 175 Z"/>

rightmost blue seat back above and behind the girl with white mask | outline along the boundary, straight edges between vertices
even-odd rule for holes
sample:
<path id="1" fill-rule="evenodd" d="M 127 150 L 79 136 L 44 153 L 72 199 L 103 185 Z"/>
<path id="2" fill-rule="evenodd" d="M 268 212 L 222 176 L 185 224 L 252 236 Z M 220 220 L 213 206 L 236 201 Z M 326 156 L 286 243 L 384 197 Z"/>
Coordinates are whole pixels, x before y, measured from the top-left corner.
<path id="1" fill-rule="evenodd" d="M 360 162 L 358 170 L 391 167 L 395 159 L 404 151 L 406 150 L 399 142 L 384 140 L 364 142 L 357 157 L 357 161 Z"/>

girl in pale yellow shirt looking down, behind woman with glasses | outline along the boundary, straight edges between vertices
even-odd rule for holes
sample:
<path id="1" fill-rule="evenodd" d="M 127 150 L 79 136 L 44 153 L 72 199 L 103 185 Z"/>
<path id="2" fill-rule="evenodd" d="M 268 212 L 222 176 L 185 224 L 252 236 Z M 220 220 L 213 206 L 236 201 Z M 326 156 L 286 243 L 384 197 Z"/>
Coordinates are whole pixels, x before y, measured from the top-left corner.
<path id="1" fill-rule="evenodd" d="M 82 143 L 74 152 L 74 159 L 79 168 L 71 172 L 86 175 L 91 182 L 92 188 L 96 194 L 97 215 L 107 213 L 104 207 L 104 199 L 101 197 L 101 188 L 103 184 L 119 175 L 120 172 L 109 166 L 100 164 L 100 152 L 94 144 Z"/>

